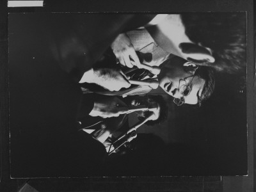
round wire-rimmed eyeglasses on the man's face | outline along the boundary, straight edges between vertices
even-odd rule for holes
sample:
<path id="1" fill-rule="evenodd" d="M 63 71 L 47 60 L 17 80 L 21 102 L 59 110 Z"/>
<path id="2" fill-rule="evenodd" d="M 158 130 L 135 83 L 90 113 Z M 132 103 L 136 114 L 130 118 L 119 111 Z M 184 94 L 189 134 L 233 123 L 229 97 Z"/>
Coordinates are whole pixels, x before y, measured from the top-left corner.
<path id="1" fill-rule="evenodd" d="M 189 77 L 193 77 L 193 78 L 192 78 L 191 82 L 188 84 L 186 79 L 188 79 Z M 185 97 L 187 97 L 189 95 L 189 93 L 191 92 L 191 84 L 193 82 L 195 75 L 189 76 L 189 77 L 185 77 L 184 79 L 180 79 L 180 81 L 179 81 L 179 92 L 181 93 L 182 97 L 173 99 L 173 102 L 175 104 L 177 104 L 177 106 L 181 106 L 182 104 L 184 104 Z M 180 84 L 181 84 L 181 86 L 180 86 Z"/>

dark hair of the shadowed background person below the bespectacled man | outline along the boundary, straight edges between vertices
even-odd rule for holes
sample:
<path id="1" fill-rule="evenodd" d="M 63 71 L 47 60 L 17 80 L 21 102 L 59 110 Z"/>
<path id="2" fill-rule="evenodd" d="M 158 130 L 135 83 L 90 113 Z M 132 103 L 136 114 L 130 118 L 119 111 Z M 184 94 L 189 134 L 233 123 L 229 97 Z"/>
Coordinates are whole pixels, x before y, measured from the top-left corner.
<path id="1" fill-rule="evenodd" d="M 163 96 L 161 95 L 146 95 L 148 97 L 148 99 L 153 99 L 154 101 L 156 101 L 159 106 L 160 106 L 160 111 L 159 111 L 159 118 L 157 118 L 157 120 L 149 120 L 147 121 L 145 124 L 146 125 L 159 125 L 162 124 L 167 116 L 168 116 L 168 105 L 166 103 L 166 101 L 164 100 Z M 141 117 L 139 117 L 140 119 Z M 143 118 L 141 118 L 143 119 Z"/>

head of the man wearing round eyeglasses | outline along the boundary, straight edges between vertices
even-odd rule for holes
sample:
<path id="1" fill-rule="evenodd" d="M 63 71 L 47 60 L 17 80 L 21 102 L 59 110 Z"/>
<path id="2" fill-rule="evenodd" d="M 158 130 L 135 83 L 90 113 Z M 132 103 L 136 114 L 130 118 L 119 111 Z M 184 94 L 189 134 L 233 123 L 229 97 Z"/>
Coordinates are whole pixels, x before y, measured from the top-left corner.
<path id="1" fill-rule="evenodd" d="M 214 74 L 209 67 L 198 66 L 178 56 L 161 64 L 159 86 L 174 97 L 177 106 L 198 104 L 209 99 L 214 91 Z"/>

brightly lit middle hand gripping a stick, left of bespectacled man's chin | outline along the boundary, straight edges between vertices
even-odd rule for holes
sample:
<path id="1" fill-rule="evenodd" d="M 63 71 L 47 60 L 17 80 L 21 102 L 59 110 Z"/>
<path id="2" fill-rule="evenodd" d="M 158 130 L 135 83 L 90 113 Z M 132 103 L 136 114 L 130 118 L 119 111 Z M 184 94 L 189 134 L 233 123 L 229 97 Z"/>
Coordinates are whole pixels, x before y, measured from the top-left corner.
<path id="1" fill-rule="evenodd" d="M 96 83 L 109 91 L 119 91 L 121 88 L 129 88 L 131 83 L 121 70 L 113 68 L 99 68 L 93 71 L 93 78 L 88 83 Z"/>

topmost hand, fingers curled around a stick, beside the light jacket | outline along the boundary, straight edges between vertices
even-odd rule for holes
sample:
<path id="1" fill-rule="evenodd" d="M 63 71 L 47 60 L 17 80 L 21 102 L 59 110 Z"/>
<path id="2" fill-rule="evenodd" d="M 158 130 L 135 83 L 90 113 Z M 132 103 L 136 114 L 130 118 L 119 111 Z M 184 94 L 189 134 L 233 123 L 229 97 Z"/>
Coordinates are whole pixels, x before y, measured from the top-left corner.
<path id="1" fill-rule="evenodd" d="M 121 65 L 126 65 L 129 68 L 136 65 L 138 68 L 141 68 L 140 60 L 131 44 L 131 40 L 125 33 L 121 33 L 116 37 L 111 48 Z"/>

